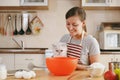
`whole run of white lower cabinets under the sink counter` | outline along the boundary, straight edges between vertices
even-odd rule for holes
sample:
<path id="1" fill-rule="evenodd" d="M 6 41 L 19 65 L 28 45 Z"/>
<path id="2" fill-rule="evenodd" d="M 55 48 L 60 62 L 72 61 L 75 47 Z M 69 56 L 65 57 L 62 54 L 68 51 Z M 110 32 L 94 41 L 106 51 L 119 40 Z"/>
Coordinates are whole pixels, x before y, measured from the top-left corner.
<path id="1" fill-rule="evenodd" d="M 7 70 L 28 69 L 29 63 L 33 63 L 35 66 L 45 65 L 45 58 L 43 54 L 0 53 L 0 58 L 2 58 L 1 62 L 6 65 Z"/>

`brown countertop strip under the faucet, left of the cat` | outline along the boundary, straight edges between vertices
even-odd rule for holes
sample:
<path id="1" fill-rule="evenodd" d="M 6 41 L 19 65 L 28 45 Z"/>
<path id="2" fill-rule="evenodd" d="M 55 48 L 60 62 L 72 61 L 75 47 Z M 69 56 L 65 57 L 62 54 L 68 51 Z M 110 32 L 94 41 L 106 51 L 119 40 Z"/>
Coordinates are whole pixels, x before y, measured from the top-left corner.
<path id="1" fill-rule="evenodd" d="M 43 49 L 38 49 L 38 48 L 0 48 L 1 53 L 10 53 L 10 52 L 15 52 L 15 53 L 43 53 L 45 50 Z"/>

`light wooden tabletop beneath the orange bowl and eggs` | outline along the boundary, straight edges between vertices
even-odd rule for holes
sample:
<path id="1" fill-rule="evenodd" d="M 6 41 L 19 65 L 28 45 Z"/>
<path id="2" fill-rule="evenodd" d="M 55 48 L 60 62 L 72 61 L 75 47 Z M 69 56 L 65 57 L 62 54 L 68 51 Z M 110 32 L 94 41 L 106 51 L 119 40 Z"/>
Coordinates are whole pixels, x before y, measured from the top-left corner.
<path id="1" fill-rule="evenodd" d="M 103 76 L 89 79 L 88 71 L 74 71 L 68 76 L 55 76 L 46 70 L 35 71 L 37 76 L 29 80 L 104 80 Z M 6 80 L 25 80 L 16 79 L 14 76 L 8 76 Z"/>

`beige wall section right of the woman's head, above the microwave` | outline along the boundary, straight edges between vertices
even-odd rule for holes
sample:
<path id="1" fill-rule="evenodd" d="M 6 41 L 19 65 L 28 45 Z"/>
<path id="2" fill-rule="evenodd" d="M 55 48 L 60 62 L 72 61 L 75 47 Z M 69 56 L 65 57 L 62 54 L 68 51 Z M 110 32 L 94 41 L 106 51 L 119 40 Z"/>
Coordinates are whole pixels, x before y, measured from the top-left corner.
<path id="1" fill-rule="evenodd" d="M 98 39 L 101 22 L 120 22 L 120 10 L 87 10 L 88 33 Z"/>

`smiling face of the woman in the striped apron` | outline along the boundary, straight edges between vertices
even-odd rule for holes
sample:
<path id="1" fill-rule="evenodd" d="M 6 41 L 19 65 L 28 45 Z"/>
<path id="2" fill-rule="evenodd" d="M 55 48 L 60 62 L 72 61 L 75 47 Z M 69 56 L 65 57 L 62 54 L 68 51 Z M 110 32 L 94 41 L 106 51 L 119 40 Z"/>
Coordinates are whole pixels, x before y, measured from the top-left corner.
<path id="1" fill-rule="evenodd" d="M 81 33 L 83 31 L 83 26 L 84 26 L 84 21 L 81 22 L 79 16 L 72 16 L 66 20 L 66 27 L 72 37 L 78 35 L 81 36 Z"/>

